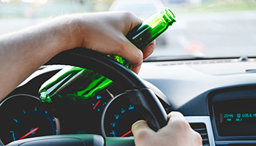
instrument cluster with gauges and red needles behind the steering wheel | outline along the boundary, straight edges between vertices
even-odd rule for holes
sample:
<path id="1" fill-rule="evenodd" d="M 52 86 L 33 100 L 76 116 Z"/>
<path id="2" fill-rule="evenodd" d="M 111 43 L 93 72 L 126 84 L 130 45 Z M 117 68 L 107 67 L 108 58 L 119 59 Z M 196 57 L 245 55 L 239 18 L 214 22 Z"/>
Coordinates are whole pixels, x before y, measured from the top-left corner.
<path id="1" fill-rule="evenodd" d="M 47 69 L 47 68 L 45 68 Z M 60 67 L 61 69 L 61 67 Z M 4 145 L 19 139 L 57 134 L 101 134 L 132 137 L 131 127 L 143 115 L 117 86 L 95 96 L 68 118 L 56 118 L 37 97 L 38 89 L 59 68 L 41 70 L 0 103 L 0 139 Z M 40 72 L 41 72 L 40 71 Z M 50 72 L 49 72 L 50 71 Z M 116 93 L 115 93 L 116 92 Z M 115 97 L 113 97 L 113 95 Z"/>

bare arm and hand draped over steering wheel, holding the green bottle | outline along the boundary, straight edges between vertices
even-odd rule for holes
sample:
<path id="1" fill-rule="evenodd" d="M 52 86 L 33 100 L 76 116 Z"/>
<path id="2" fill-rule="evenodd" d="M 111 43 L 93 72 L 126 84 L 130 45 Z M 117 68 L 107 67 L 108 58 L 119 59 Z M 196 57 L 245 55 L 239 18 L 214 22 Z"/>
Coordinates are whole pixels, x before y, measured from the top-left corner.
<path id="1" fill-rule="evenodd" d="M 142 53 L 125 37 L 140 23 L 130 12 L 65 15 L 1 36 L 0 101 L 54 55 L 75 47 L 127 58 L 138 73 L 143 58 L 154 50 L 151 43 Z"/>

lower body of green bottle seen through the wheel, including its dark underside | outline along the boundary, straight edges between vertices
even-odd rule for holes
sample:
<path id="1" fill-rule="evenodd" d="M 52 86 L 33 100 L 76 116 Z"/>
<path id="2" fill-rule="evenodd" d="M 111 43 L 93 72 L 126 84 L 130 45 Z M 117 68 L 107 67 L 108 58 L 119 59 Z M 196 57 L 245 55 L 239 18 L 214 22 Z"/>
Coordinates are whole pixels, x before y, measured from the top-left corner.
<path id="1" fill-rule="evenodd" d="M 112 80 L 89 69 L 65 66 L 42 84 L 39 98 L 55 117 L 67 118 L 111 83 Z"/>

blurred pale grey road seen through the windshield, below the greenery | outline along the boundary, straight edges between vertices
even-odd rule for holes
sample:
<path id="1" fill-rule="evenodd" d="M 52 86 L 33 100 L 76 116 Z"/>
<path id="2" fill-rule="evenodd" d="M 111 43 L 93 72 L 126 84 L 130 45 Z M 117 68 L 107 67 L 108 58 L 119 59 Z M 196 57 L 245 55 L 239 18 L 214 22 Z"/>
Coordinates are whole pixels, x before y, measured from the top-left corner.
<path id="1" fill-rule="evenodd" d="M 157 43 L 154 56 L 200 57 L 256 56 L 256 11 L 176 15 L 177 22 Z M 40 23 L 45 19 L 0 20 L 0 35 Z"/>

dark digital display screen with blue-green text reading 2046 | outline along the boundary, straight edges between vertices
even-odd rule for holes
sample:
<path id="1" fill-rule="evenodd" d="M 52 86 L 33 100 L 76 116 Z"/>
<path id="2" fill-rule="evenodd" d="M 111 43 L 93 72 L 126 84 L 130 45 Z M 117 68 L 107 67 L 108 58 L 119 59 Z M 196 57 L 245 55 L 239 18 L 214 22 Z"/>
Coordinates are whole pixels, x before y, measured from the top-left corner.
<path id="1" fill-rule="evenodd" d="M 233 99 L 214 102 L 219 136 L 256 135 L 256 99 Z"/>

